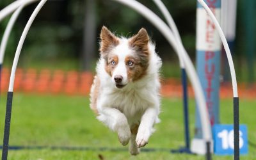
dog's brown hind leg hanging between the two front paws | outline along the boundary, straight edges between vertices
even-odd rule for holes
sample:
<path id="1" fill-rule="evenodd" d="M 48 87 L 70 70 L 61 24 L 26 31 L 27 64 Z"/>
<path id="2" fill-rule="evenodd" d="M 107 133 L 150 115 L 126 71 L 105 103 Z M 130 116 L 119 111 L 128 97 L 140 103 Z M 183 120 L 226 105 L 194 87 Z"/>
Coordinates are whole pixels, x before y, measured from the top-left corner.
<path id="1" fill-rule="evenodd" d="M 130 140 L 130 146 L 129 146 L 129 151 L 131 155 L 136 156 L 137 154 L 140 154 L 140 148 L 137 147 L 136 145 L 136 135 L 138 132 L 138 127 L 139 125 L 132 125 L 131 127 L 131 140 Z"/>

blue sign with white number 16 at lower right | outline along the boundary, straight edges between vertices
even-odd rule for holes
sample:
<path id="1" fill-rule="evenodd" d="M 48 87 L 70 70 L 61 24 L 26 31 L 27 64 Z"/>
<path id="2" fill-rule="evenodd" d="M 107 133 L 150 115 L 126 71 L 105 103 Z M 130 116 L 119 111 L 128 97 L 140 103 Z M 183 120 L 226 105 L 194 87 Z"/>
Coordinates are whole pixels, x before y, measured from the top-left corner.
<path id="1" fill-rule="evenodd" d="M 214 154 L 234 154 L 233 125 L 214 125 L 213 127 Z M 248 138 L 246 125 L 239 125 L 240 154 L 248 154 Z"/>

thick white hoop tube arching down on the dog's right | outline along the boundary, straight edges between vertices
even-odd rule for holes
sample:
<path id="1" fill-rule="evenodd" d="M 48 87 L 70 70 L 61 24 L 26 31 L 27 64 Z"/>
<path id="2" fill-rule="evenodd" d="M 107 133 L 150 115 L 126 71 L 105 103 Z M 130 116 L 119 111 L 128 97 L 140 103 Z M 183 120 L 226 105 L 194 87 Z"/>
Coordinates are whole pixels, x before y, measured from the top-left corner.
<path id="1" fill-rule="evenodd" d="M 203 130 L 203 138 L 205 141 L 212 141 L 212 134 L 211 134 L 211 125 L 209 122 L 209 114 L 207 113 L 206 103 L 204 99 L 204 93 L 202 90 L 202 86 L 200 84 L 200 81 L 198 79 L 198 76 L 196 74 L 196 70 L 193 67 L 192 61 L 189 59 L 188 54 L 183 51 L 182 47 L 177 44 L 175 40 L 175 36 L 173 35 L 172 31 L 168 26 L 161 20 L 155 13 L 150 11 L 148 8 L 143 6 L 143 4 L 138 3 L 138 1 L 130 0 L 114 0 L 117 2 L 120 2 L 122 4 L 125 4 L 132 9 L 139 12 L 141 15 L 143 15 L 146 19 L 148 19 L 154 26 L 159 29 L 159 31 L 163 34 L 163 36 L 168 40 L 168 42 L 174 47 L 177 54 L 180 54 L 182 57 L 182 60 L 184 61 L 185 68 L 188 73 L 188 77 L 191 80 L 191 84 L 195 91 L 195 97 L 198 100 L 198 108 L 200 111 L 200 118 L 202 120 L 202 130 Z"/>

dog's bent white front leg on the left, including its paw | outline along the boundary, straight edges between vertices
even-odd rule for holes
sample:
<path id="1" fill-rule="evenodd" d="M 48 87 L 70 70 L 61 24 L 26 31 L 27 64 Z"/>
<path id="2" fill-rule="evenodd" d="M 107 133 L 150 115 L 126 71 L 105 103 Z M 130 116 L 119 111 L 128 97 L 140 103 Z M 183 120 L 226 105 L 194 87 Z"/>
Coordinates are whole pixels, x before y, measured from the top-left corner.
<path id="1" fill-rule="evenodd" d="M 106 124 L 111 130 L 117 132 L 122 145 L 127 145 L 131 138 L 131 130 L 127 118 L 115 108 L 104 108 L 99 112 L 97 119 Z"/>

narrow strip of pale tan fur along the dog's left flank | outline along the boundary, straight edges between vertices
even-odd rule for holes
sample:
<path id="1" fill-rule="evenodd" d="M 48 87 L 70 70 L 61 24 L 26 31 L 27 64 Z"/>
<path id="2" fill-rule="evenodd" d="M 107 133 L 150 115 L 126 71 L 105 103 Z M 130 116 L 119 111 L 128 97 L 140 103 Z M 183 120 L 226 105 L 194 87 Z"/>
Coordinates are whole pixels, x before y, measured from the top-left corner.
<path id="1" fill-rule="evenodd" d="M 99 96 L 99 88 L 100 88 L 100 79 L 99 77 L 95 76 L 92 84 L 92 91 L 91 91 L 91 103 L 90 108 L 93 110 L 93 112 L 98 115 L 98 109 L 97 109 L 97 99 Z"/>

